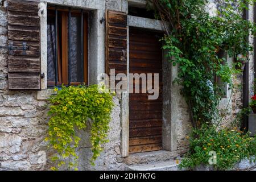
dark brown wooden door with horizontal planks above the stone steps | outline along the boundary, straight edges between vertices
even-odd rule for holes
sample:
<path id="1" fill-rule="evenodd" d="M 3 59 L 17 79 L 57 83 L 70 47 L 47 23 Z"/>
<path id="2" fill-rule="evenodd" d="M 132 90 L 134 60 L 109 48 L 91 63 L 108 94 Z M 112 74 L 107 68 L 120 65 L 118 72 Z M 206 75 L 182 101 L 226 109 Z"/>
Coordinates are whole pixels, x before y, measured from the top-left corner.
<path id="1" fill-rule="evenodd" d="M 130 93 L 129 151 L 131 154 L 161 150 L 163 103 L 160 35 L 156 32 L 130 28 L 129 39 L 130 73 L 159 73 L 159 97 L 157 100 L 148 100 L 148 93 Z M 132 86 L 132 82 L 135 81 L 130 80 L 130 86 Z M 139 84 L 141 89 L 141 81 Z"/>

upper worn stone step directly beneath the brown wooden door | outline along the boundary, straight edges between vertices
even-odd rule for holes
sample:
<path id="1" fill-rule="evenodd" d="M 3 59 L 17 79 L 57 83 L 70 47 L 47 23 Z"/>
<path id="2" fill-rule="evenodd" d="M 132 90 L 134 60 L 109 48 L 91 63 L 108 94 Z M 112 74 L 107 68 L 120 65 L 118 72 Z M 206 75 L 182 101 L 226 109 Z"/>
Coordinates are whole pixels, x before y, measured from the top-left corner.
<path id="1" fill-rule="evenodd" d="M 179 154 L 176 151 L 152 151 L 130 154 L 124 159 L 124 163 L 128 166 L 134 164 L 148 164 L 152 162 L 164 162 L 170 159 L 176 159 Z"/>

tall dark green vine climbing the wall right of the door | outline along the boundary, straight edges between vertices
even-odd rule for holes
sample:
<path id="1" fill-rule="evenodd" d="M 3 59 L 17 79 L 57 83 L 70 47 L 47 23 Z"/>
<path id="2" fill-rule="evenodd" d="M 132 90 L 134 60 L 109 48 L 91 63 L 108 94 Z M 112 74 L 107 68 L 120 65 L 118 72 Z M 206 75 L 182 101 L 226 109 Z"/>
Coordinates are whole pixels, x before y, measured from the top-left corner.
<path id="1" fill-rule="evenodd" d="M 252 47 L 247 42 L 254 35 L 254 24 L 243 19 L 246 5 L 254 0 L 224 0 L 210 16 L 204 7 L 207 0 L 148 0 L 155 16 L 164 24 L 163 49 L 179 71 L 176 78 L 181 94 L 191 110 L 192 124 L 213 126 L 219 118 L 218 104 L 223 92 L 222 83 L 232 89 L 232 78 L 241 72 Z M 225 53 L 235 62 L 228 65 Z"/>

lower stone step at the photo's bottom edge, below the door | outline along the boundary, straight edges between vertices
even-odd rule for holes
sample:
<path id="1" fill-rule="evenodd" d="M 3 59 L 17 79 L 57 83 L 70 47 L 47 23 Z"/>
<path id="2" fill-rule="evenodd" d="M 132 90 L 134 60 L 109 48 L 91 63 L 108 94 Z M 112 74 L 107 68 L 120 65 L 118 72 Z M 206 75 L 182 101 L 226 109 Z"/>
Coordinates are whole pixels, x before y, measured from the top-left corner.
<path id="1" fill-rule="evenodd" d="M 176 160 L 126 166 L 126 171 L 178 171 Z"/>

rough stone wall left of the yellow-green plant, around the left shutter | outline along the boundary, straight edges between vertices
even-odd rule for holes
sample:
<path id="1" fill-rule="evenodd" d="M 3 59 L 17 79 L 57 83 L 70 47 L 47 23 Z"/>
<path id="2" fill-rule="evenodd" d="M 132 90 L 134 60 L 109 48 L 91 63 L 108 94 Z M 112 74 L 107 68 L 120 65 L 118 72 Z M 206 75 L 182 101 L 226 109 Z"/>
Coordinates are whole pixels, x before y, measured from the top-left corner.
<path id="1" fill-rule="evenodd" d="M 0 3 L 0 42 L 7 46 L 7 1 Z M 7 89 L 7 51 L 0 50 L 0 169 L 44 169 L 38 152 L 45 150 L 46 102 L 36 92 Z"/>

